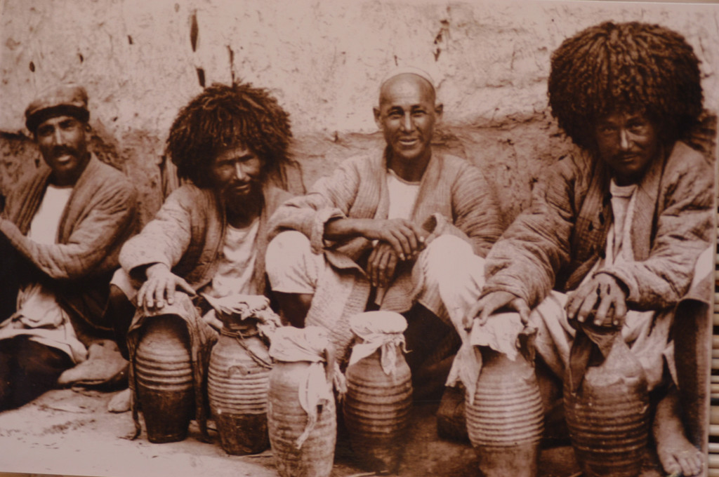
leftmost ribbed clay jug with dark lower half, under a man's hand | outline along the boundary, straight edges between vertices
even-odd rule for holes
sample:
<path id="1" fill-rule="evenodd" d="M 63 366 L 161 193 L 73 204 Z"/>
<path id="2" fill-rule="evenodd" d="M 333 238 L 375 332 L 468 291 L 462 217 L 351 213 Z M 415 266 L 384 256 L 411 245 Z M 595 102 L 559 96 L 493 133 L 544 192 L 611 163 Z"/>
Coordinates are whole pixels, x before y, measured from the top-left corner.
<path id="1" fill-rule="evenodd" d="M 147 439 L 170 443 L 187 437 L 195 393 L 190 339 L 180 318 L 148 318 L 135 353 L 137 398 Z"/>

